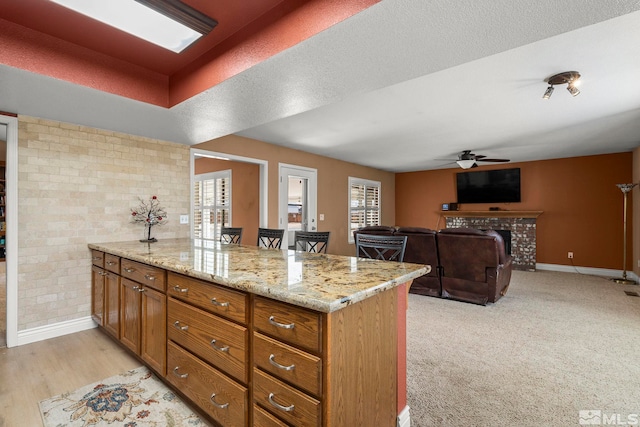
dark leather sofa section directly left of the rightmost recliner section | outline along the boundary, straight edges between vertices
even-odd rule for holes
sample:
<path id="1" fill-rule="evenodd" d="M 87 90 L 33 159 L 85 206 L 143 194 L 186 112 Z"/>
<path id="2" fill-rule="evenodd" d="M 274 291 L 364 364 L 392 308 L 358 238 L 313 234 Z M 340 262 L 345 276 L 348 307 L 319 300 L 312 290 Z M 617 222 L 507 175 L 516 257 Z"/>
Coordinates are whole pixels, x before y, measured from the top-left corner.
<path id="1" fill-rule="evenodd" d="M 442 294 L 438 273 L 438 246 L 436 232 L 421 227 L 399 227 L 395 236 L 407 236 L 407 247 L 404 262 L 428 264 L 431 271 L 413 280 L 409 292 L 413 294 L 439 297 Z"/>

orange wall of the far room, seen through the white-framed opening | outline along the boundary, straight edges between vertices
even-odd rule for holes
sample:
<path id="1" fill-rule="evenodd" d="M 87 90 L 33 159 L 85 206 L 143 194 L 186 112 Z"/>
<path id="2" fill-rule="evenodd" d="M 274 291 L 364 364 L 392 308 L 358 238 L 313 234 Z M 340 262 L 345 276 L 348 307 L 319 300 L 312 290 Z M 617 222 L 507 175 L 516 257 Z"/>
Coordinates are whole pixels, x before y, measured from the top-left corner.
<path id="1" fill-rule="evenodd" d="M 194 174 L 231 169 L 231 221 L 242 227 L 242 242 L 258 241 L 260 225 L 260 167 L 256 164 L 202 157 L 194 162 Z"/>

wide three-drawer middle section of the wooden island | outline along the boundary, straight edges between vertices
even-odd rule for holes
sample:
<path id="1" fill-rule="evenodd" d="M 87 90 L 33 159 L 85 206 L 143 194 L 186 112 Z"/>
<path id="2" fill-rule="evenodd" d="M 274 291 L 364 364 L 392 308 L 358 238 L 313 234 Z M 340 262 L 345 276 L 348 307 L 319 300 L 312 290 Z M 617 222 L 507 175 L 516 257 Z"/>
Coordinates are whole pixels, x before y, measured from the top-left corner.
<path id="1" fill-rule="evenodd" d="M 249 425 L 248 295 L 171 272 L 167 281 L 167 380 L 221 425 Z"/>

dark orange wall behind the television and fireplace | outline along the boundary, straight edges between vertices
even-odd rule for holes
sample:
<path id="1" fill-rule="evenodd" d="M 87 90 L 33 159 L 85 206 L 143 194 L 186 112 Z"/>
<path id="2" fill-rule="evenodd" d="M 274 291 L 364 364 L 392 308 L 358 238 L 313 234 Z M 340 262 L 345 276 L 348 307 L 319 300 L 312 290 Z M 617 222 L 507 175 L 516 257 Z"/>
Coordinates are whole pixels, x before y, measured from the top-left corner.
<path id="1" fill-rule="evenodd" d="M 636 157 L 639 156 L 636 150 Z M 637 160 L 636 160 L 637 162 Z M 615 184 L 632 182 L 633 153 L 483 166 L 521 168 L 522 202 L 465 204 L 461 210 L 540 210 L 537 262 L 622 269 L 622 192 Z M 444 227 L 441 203 L 455 202 L 455 174 L 460 169 L 396 175 L 396 225 Z M 637 182 L 637 179 L 636 179 Z M 637 194 L 637 189 L 634 189 Z M 628 210 L 627 269 L 633 257 L 632 200 Z M 636 197 L 639 199 L 639 197 Z M 636 210 L 636 212 L 638 212 Z M 638 253 L 638 252 L 636 252 Z"/>

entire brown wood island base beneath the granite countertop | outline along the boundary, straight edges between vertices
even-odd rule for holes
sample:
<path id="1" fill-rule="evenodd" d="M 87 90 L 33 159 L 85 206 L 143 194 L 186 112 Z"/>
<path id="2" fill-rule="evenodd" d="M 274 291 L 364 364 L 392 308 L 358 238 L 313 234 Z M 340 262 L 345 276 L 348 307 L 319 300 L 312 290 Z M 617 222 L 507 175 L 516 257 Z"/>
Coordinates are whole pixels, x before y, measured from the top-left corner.
<path id="1" fill-rule="evenodd" d="M 396 289 L 325 313 L 110 254 L 93 263 L 96 321 L 115 338 L 119 322 L 119 340 L 216 423 L 396 425 Z"/>

